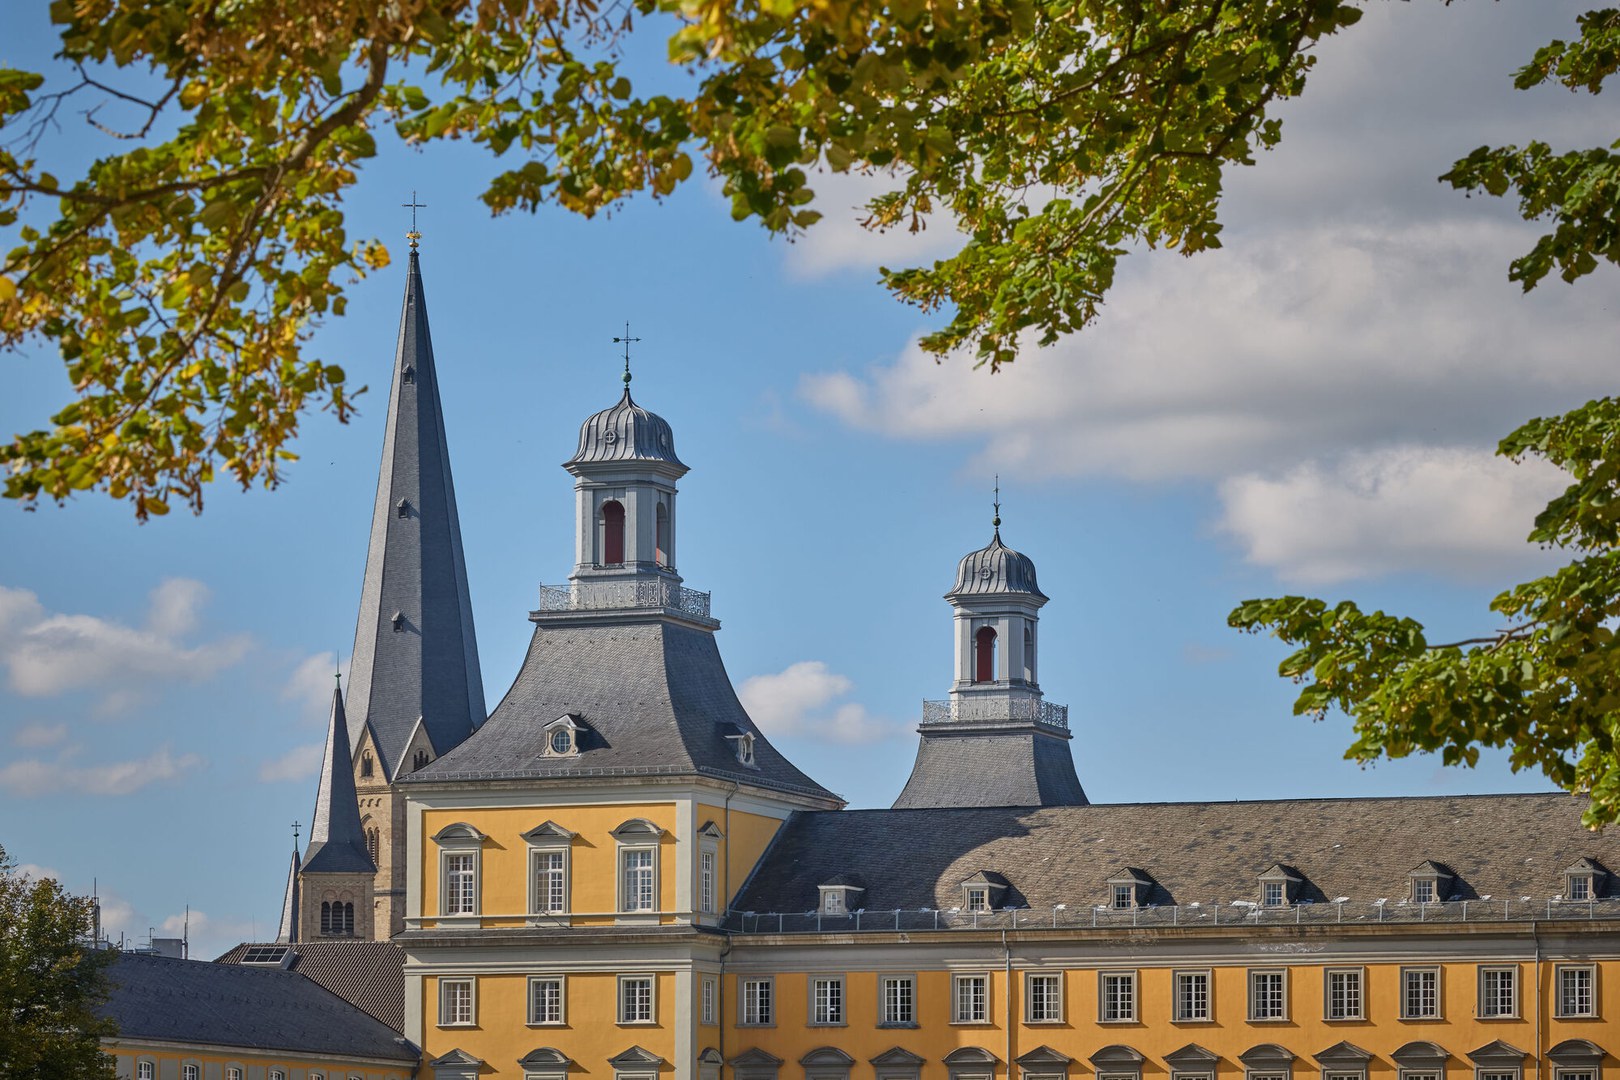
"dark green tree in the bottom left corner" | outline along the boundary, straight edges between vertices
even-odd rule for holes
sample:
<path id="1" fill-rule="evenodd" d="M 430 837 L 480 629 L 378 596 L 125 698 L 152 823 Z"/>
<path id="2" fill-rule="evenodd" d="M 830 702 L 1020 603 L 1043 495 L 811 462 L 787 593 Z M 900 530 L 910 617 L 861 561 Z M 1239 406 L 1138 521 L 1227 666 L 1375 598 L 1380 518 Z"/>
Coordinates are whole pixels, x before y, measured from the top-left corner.
<path id="1" fill-rule="evenodd" d="M 0 847 L 0 1077 L 113 1080 L 100 1051 L 112 1023 L 112 950 L 89 949 L 91 900 L 52 878 L 31 879 Z"/>

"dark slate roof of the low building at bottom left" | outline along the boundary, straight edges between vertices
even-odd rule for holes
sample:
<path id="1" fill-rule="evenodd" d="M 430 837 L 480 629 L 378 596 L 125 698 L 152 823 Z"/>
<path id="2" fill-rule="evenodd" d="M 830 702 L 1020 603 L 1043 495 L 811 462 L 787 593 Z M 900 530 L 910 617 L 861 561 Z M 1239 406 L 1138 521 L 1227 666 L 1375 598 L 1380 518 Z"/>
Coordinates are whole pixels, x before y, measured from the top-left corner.
<path id="1" fill-rule="evenodd" d="M 120 954 L 109 981 L 102 1010 L 123 1038 L 418 1059 L 397 1030 L 295 972 Z"/>

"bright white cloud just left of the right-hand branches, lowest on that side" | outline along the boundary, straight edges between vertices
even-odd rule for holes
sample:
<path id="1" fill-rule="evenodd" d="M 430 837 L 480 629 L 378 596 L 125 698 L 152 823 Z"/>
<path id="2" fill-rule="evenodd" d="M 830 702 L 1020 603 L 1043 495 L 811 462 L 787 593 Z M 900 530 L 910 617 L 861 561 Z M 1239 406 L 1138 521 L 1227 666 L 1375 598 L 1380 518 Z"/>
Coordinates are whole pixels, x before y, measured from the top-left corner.
<path id="1" fill-rule="evenodd" d="M 1524 542 L 1568 483 L 1544 461 L 1489 450 L 1395 447 L 1221 483 L 1220 528 L 1285 581 L 1330 585 L 1400 570 L 1482 580 L 1554 562 Z"/>

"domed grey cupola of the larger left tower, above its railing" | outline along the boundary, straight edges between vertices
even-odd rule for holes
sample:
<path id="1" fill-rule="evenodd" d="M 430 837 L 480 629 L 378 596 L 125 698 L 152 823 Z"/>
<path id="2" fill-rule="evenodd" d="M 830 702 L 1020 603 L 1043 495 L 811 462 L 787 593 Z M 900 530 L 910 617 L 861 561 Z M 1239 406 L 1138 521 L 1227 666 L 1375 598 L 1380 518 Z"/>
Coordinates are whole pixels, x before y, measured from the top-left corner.
<path id="1" fill-rule="evenodd" d="M 630 397 L 580 426 L 580 449 L 564 463 L 573 474 L 573 581 L 680 581 L 676 573 L 676 457 L 669 421 Z"/>

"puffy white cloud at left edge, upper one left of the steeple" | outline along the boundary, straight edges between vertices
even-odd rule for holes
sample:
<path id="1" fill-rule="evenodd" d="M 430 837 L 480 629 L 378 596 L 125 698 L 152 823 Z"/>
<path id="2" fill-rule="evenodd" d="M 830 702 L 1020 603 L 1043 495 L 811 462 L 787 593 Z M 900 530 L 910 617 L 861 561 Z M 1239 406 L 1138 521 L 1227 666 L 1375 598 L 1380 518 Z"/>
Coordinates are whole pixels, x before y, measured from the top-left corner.
<path id="1" fill-rule="evenodd" d="M 0 665 L 23 696 L 94 688 L 102 691 L 100 709 L 117 711 L 143 687 L 204 682 L 248 654 L 246 635 L 185 641 L 206 602 L 202 583 L 170 578 L 152 589 L 144 625 L 128 627 L 99 615 L 52 614 L 34 593 L 0 586 Z"/>

